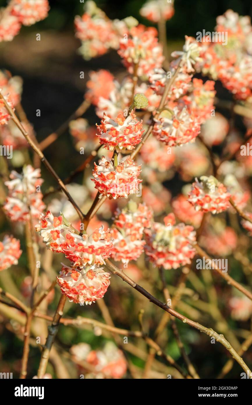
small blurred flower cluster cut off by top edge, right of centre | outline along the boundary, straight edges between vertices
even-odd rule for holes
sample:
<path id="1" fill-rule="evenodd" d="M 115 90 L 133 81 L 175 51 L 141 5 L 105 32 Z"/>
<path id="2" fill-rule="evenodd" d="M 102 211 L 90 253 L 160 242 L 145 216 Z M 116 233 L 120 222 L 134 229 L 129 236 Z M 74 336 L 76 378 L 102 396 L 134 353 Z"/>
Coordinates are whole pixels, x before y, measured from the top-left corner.
<path id="1" fill-rule="evenodd" d="M 140 14 L 155 23 L 169 20 L 174 15 L 174 2 L 167 0 L 150 0 L 144 3 Z"/>

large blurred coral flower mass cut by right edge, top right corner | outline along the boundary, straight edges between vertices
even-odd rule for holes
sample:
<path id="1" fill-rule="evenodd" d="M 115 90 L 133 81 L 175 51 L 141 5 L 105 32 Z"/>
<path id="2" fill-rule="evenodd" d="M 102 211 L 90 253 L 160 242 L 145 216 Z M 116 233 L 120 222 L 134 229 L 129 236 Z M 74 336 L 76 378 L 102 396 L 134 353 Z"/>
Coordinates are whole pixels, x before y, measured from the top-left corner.
<path id="1" fill-rule="evenodd" d="M 203 36 L 197 71 L 219 79 L 238 100 L 252 96 L 252 26 L 250 17 L 227 10 L 216 19 L 216 36 Z M 212 33 L 211 33 L 212 35 Z"/>

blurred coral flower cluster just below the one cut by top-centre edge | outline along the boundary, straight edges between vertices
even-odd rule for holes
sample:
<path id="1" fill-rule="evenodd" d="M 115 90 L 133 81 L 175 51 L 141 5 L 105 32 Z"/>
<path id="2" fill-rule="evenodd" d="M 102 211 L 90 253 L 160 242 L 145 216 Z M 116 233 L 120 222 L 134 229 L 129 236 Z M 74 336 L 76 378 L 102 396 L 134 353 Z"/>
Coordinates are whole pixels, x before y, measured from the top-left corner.
<path id="1" fill-rule="evenodd" d="M 137 65 L 136 75 L 148 77 L 155 69 L 163 64 L 163 48 L 157 38 L 157 30 L 153 27 L 146 28 L 141 24 L 131 28 L 129 38 L 120 40 L 119 55 L 123 64 L 133 74 Z"/>

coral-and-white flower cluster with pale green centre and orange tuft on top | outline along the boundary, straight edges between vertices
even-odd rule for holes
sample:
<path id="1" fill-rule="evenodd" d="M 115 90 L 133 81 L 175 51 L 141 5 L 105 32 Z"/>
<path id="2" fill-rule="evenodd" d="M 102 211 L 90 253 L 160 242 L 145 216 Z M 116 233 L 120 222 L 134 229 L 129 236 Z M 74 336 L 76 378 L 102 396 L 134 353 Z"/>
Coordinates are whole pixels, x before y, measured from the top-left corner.
<path id="1" fill-rule="evenodd" d="M 155 222 L 150 230 L 145 230 L 145 252 L 150 261 L 164 269 L 178 269 L 190 264 L 195 256 L 193 243 L 196 232 L 193 226 L 183 223 L 176 225 L 174 214 L 167 215 L 164 222 Z"/>

